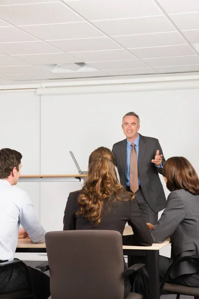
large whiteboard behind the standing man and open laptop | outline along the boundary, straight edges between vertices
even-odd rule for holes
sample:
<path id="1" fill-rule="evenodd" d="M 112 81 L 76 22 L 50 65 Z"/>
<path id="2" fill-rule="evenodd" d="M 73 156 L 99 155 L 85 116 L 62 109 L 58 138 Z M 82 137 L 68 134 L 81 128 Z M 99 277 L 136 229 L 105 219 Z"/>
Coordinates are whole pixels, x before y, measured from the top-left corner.
<path id="1" fill-rule="evenodd" d="M 186 156 L 199 172 L 199 89 L 48 95 L 41 97 L 41 172 L 77 173 L 72 150 L 86 170 L 90 153 L 125 138 L 121 120 L 134 111 L 140 133 L 158 138 L 166 158 Z"/>

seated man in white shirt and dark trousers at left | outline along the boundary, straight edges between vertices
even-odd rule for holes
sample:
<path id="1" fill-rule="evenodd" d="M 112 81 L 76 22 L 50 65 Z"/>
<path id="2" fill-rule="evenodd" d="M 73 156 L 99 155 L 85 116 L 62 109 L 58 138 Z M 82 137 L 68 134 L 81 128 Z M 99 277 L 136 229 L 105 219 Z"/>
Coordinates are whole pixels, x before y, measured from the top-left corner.
<path id="1" fill-rule="evenodd" d="M 0 263 L 12 261 L 19 237 L 29 236 L 33 243 L 44 242 L 45 231 L 33 213 L 27 193 L 16 186 L 21 168 L 20 152 L 0 150 Z M 23 228 L 19 230 L 19 225 Z M 50 280 L 44 273 L 29 267 L 37 299 L 50 296 Z M 25 270 L 10 266 L 0 270 L 0 294 L 30 289 Z"/>

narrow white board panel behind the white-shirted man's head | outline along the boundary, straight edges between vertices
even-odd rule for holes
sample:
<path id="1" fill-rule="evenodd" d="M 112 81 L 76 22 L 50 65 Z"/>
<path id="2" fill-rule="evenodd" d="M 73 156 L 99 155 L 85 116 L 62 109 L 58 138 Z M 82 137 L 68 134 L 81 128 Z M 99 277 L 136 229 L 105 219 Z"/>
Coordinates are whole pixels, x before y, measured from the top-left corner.
<path id="1" fill-rule="evenodd" d="M 22 174 L 40 171 L 40 98 L 31 92 L 0 93 L 0 149 L 21 152 Z"/>

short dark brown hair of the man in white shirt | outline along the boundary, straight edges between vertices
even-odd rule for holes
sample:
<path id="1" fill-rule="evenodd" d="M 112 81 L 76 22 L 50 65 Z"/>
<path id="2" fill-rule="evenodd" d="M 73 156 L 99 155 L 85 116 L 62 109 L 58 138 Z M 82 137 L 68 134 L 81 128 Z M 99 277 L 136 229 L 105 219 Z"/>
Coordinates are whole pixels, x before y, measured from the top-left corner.
<path id="1" fill-rule="evenodd" d="M 10 175 L 14 167 L 19 171 L 22 154 L 14 149 L 0 149 L 0 178 Z"/>

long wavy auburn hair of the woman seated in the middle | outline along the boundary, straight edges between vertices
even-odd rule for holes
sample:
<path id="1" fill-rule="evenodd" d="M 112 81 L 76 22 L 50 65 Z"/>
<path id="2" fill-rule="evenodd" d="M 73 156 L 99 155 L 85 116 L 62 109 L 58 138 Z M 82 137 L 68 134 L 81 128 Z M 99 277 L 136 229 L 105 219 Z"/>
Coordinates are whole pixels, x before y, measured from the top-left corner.
<path id="1" fill-rule="evenodd" d="M 115 201 L 127 201 L 129 196 L 119 184 L 115 170 L 115 158 L 110 149 L 100 147 L 89 157 L 88 178 L 82 188 L 78 202 L 80 209 L 77 215 L 87 217 L 97 226 L 102 214 L 109 210 Z"/>

